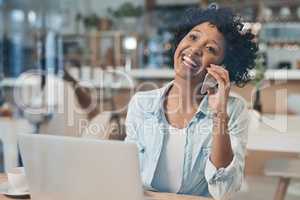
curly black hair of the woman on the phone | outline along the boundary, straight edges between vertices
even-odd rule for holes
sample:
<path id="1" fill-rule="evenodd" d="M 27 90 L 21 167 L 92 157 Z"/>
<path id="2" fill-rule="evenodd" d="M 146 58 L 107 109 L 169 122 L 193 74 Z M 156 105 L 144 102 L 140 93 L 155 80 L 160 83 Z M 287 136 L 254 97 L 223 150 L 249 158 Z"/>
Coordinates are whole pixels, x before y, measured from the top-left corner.
<path id="1" fill-rule="evenodd" d="M 223 34 L 226 42 L 223 65 L 229 71 L 230 81 L 243 87 L 250 81 L 249 70 L 254 68 L 258 45 L 253 41 L 254 35 L 250 31 L 242 33 L 244 24 L 242 18 L 230 8 L 209 7 L 205 10 L 190 8 L 183 15 L 175 32 L 176 50 L 180 41 L 195 26 L 209 22 Z"/>

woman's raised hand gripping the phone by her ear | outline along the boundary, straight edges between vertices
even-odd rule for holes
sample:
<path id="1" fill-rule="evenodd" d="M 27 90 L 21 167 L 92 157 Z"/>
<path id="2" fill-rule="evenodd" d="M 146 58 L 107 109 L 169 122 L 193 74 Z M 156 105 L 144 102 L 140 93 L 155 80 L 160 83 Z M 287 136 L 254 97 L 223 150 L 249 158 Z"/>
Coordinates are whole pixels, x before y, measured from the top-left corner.
<path id="1" fill-rule="evenodd" d="M 218 82 L 218 88 L 215 91 L 208 91 L 208 104 L 213 112 L 226 113 L 227 101 L 230 92 L 229 73 L 221 66 L 211 64 L 206 68 L 207 73 L 211 74 Z"/>

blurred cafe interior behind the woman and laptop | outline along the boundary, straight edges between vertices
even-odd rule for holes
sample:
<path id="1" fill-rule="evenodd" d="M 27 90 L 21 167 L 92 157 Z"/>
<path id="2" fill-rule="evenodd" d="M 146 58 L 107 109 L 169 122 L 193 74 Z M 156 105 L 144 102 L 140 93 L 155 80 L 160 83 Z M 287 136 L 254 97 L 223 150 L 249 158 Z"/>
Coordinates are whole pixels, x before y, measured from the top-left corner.
<path id="1" fill-rule="evenodd" d="M 253 80 L 232 88 L 250 118 L 236 199 L 299 200 L 299 0 L 0 0 L 0 171 L 19 165 L 17 133 L 124 139 L 130 97 L 174 76 L 178 19 L 212 2 L 259 43 Z"/>

